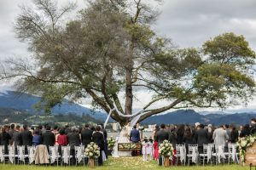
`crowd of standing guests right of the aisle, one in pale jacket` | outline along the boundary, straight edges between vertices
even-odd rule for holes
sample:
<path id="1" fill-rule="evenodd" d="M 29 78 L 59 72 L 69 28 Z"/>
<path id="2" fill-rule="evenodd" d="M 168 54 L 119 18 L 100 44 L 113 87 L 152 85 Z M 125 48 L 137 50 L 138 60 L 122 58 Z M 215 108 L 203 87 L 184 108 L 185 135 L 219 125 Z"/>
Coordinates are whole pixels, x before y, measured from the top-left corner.
<path id="1" fill-rule="evenodd" d="M 190 125 L 165 125 L 156 126 L 154 131 L 154 159 L 159 159 L 158 146 L 164 140 L 168 140 L 174 147 L 176 144 L 198 144 L 199 153 L 203 153 L 203 144 L 224 145 L 227 150 L 228 143 L 236 143 L 238 138 L 256 133 L 256 119 L 251 119 L 251 124 L 246 124 L 238 129 L 233 125 L 221 125 L 213 127 L 199 122 L 195 126 Z M 161 162 L 161 161 L 160 161 Z"/>

